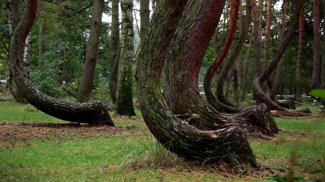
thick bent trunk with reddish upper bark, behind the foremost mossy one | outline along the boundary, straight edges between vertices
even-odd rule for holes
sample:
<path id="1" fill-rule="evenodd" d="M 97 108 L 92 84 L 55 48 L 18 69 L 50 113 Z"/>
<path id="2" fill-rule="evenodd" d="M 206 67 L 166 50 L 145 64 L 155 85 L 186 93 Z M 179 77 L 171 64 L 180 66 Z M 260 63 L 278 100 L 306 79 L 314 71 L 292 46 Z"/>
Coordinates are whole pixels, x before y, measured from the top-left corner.
<path id="1" fill-rule="evenodd" d="M 214 130 L 234 125 L 240 126 L 247 132 L 252 130 L 267 131 L 263 134 L 273 135 L 278 128 L 265 106 L 261 106 L 264 110 L 257 110 L 258 113 L 255 113 L 255 116 L 250 115 L 251 118 L 245 117 L 250 112 L 248 110 L 232 116 L 222 115 L 210 107 L 198 92 L 198 75 L 201 63 L 224 3 L 225 0 L 200 0 L 196 3 L 189 1 L 187 4 L 184 17 L 169 43 L 165 64 L 165 76 L 168 84 L 164 88 L 165 97 L 169 99 L 169 106 L 173 113 L 198 116 L 190 121 L 197 127 Z M 211 4 L 216 5 L 211 6 Z M 250 109 L 253 110 L 253 108 Z M 263 115 L 266 117 L 259 118 Z"/>

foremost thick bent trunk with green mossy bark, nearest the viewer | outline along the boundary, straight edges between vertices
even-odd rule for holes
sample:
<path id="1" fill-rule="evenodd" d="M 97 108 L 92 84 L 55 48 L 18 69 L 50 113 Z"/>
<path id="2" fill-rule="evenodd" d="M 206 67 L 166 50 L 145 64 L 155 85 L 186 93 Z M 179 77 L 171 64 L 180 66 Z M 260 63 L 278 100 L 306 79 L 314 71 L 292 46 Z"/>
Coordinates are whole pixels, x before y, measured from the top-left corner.
<path id="1" fill-rule="evenodd" d="M 194 1 L 189 0 L 188 3 L 195 3 Z M 227 127 L 216 131 L 198 130 L 176 118 L 164 101 L 160 89 L 161 72 L 169 41 L 186 2 L 187 0 L 161 1 L 151 19 L 144 43 L 141 44 L 136 78 L 143 119 L 164 147 L 183 158 L 219 162 L 230 161 L 234 157 L 257 167 L 249 142 L 240 129 Z"/>

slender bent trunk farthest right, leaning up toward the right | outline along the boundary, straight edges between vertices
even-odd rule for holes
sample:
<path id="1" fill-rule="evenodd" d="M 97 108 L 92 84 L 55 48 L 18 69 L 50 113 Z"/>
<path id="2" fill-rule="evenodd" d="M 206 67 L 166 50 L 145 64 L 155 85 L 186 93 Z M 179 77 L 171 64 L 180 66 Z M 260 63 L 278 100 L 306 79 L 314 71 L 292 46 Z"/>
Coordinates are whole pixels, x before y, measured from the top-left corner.
<path id="1" fill-rule="evenodd" d="M 290 40 L 292 39 L 294 32 L 298 26 L 298 19 L 300 14 L 300 8 L 302 7 L 303 0 L 295 1 L 293 4 L 295 6 L 293 19 L 291 20 L 291 25 L 284 36 L 284 40 L 281 45 L 279 45 L 279 49 L 275 54 L 273 60 L 268 64 L 267 68 L 260 74 L 258 77 L 255 78 L 253 81 L 253 94 L 255 97 L 256 104 L 265 103 L 270 110 L 279 110 L 284 111 L 285 108 L 281 107 L 278 103 L 272 101 L 270 98 L 266 96 L 264 91 L 261 89 L 260 85 L 266 81 L 266 79 L 271 75 L 274 68 L 277 66 L 278 62 L 281 60 L 282 55 L 286 48 L 288 47 Z"/>

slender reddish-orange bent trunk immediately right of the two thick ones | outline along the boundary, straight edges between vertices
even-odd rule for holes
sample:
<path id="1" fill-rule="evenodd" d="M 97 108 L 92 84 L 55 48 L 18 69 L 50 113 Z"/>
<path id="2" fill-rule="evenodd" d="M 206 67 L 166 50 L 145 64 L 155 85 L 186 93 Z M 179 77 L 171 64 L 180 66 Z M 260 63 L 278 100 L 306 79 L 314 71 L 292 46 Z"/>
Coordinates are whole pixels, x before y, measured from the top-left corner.
<path id="1" fill-rule="evenodd" d="M 250 8 L 248 8 L 248 9 L 250 9 Z M 224 48 L 223 48 L 220 56 L 217 57 L 217 59 L 215 59 L 215 61 L 212 62 L 212 64 L 209 66 L 209 69 L 206 73 L 205 80 L 204 80 L 204 90 L 205 90 L 205 94 L 206 94 L 206 97 L 207 97 L 207 100 L 209 101 L 209 103 L 215 109 L 217 109 L 219 111 L 225 111 L 227 113 L 237 113 L 237 112 L 241 111 L 242 109 L 236 108 L 235 106 L 230 105 L 230 104 L 220 102 L 212 93 L 211 81 L 212 81 L 214 74 L 219 69 L 222 61 L 224 61 L 224 59 L 226 58 L 228 51 L 232 45 L 233 36 L 236 31 L 238 10 L 239 10 L 239 1 L 231 1 L 230 29 L 228 32 L 226 43 L 224 45 Z M 248 13 L 248 14 L 251 14 L 251 13 Z M 248 16 L 248 18 L 250 18 L 250 16 Z M 236 58 L 234 58 L 234 59 L 236 59 Z M 232 61 L 232 60 L 230 60 L 230 61 Z M 230 62 L 230 61 L 228 61 L 228 62 Z M 228 66 L 226 68 L 226 69 L 228 69 L 229 66 L 232 66 L 232 65 L 226 64 L 226 66 Z M 224 69 L 225 69 L 225 67 L 223 67 L 220 75 L 218 76 L 218 83 L 220 82 L 220 80 L 222 80 L 222 82 L 224 82 L 224 80 L 226 80 L 227 71 L 225 71 Z M 217 91 L 218 91 L 218 88 L 220 85 L 219 84 L 217 84 L 217 85 L 218 85 L 218 87 L 217 87 Z M 223 89 L 223 84 L 222 84 L 222 89 Z"/>

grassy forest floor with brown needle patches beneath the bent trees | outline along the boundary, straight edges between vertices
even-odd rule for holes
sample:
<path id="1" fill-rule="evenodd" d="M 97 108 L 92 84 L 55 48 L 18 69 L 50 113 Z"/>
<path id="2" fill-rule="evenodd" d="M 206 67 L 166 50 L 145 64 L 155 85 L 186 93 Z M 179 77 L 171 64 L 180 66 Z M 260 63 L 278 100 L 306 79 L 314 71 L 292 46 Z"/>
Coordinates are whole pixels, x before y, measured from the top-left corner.
<path id="1" fill-rule="evenodd" d="M 178 158 L 156 142 L 139 111 L 137 119 L 113 117 L 117 127 L 90 127 L 2 100 L 0 181 L 260 182 L 290 169 L 305 179 L 325 181 L 322 118 L 275 118 L 282 129 L 275 138 L 250 139 L 258 163 L 272 168 L 255 171 L 205 167 Z M 289 162 L 293 153 L 295 165 Z"/>

